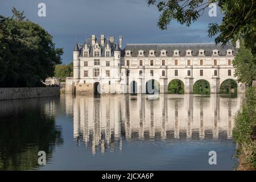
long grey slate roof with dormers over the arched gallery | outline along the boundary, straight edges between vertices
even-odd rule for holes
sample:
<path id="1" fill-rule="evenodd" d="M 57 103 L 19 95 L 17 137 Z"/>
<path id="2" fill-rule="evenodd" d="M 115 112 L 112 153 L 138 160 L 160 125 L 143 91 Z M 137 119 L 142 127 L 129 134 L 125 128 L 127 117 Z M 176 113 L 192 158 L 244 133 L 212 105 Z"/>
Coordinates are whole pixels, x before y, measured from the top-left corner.
<path id="1" fill-rule="evenodd" d="M 186 51 L 191 49 L 192 56 L 199 55 L 199 50 L 204 49 L 205 56 L 212 56 L 212 51 L 214 49 L 218 49 L 219 56 L 226 56 L 226 50 L 232 49 L 233 55 L 236 55 L 236 49 L 232 46 L 232 44 L 228 43 L 226 46 L 221 46 L 221 44 L 215 43 L 182 43 L 182 44 L 127 44 L 125 49 L 122 51 L 121 56 L 125 56 L 125 51 L 130 50 L 132 57 L 138 56 L 138 51 L 143 50 L 144 56 L 149 55 L 150 50 L 155 51 L 155 56 L 160 56 L 160 51 L 163 49 L 167 51 L 167 56 L 173 56 L 174 50 L 179 50 L 180 56 L 185 56 Z"/>

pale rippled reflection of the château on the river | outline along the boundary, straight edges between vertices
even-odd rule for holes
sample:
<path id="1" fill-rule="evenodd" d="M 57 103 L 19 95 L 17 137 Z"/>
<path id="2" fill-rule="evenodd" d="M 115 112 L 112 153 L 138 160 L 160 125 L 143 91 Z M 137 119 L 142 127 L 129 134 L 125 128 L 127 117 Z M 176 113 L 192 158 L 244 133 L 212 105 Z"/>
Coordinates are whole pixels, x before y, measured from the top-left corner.
<path id="1" fill-rule="evenodd" d="M 243 94 L 225 98 L 219 94 L 146 94 L 77 96 L 73 108 L 73 136 L 84 142 L 92 154 L 124 150 L 124 140 L 208 140 L 232 139 L 233 116 Z M 70 105 L 69 105 L 70 106 Z"/>

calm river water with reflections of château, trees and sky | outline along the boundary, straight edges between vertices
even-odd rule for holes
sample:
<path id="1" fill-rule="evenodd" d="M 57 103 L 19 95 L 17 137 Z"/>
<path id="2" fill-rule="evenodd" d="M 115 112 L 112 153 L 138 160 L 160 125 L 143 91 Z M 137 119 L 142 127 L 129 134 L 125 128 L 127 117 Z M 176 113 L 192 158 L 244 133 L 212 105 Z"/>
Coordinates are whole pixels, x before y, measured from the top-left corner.
<path id="1" fill-rule="evenodd" d="M 242 101 L 216 94 L 1 101 L 0 169 L 232 170 Z M 46 151 L 45 166 L 38 151 Z M 217 165 L 209 165 L 209 151 Z"/>

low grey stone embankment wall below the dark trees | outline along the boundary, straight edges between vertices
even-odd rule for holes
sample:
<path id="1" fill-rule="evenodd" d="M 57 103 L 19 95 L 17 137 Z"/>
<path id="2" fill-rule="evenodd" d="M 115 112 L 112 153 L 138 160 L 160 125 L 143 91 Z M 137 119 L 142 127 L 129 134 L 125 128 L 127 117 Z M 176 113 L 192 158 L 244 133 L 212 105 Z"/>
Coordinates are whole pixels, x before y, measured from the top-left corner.
<path id="1" fill-rule="evenodd" d="M 60 96 L 59 87 L 0 88 L 0 100 Z"/>

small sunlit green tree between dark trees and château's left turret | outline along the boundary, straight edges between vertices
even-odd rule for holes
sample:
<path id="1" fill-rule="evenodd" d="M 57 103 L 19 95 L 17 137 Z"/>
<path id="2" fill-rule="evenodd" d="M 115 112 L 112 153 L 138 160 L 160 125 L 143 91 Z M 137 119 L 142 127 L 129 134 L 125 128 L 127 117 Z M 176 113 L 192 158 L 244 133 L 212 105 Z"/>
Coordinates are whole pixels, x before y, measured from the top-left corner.
<path id="1" fill-rule="evenodd" d="M 55 77 L 63 78 L 72 77 L 73 76 L 73 63 L 69 63 L 68 65 L 59 64 L 55 66 Z"/>

